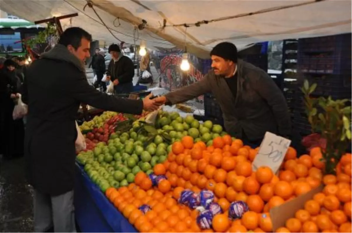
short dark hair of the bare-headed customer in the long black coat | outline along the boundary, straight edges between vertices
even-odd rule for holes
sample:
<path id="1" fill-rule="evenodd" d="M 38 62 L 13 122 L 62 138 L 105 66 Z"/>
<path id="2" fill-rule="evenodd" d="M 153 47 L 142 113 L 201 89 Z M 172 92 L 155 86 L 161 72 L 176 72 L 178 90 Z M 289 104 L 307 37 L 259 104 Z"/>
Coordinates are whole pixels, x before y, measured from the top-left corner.
<path id="1" fill-rule="evenodd" d="M 82 38 L 92 41 L 92 35 L 87 31 L 84 31 L 80 27 L 70 27 L 60 35 L 58 44 L 64 46 L 72 45 L 77 50 L 81 46 Z"/>

